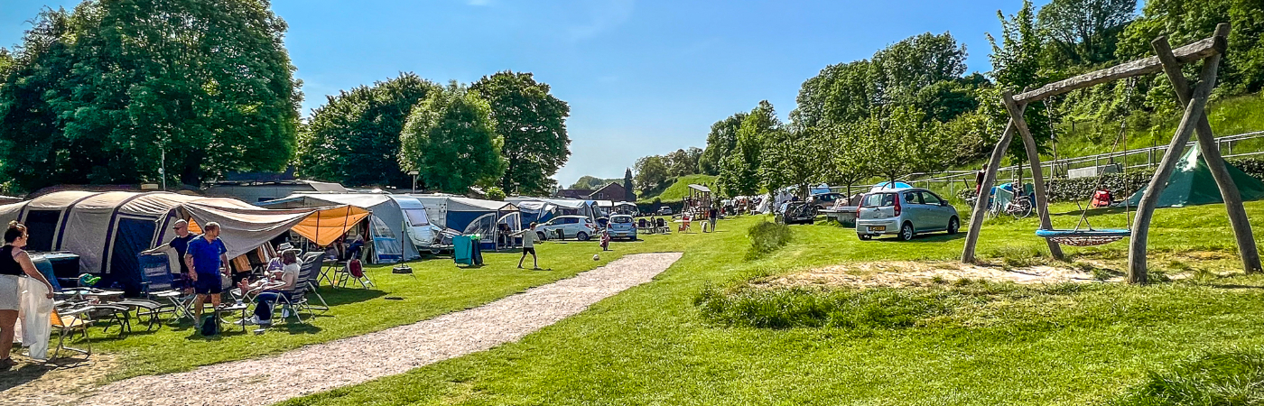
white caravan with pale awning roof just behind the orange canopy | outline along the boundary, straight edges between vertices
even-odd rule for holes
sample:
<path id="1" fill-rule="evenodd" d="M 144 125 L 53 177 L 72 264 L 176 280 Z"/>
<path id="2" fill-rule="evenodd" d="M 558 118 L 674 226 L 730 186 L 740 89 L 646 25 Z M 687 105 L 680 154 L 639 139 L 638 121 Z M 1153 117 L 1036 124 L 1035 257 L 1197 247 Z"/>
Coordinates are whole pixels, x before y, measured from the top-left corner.
<path id="1" fill-rule="evenodd" d="M 369 237 L 373 239 L 374 263 L 394 263 L 420 258 L 417 247 L 408 238 L 404 211 L 393 196 L 386 194 L 293 194 L 284 199 L 258 202 L 260 207 L 321 207 L 349 205 L 372 212 Z M 422 211 L 425 219 L 425 211 Z M 427 225 L 428 226 L 428 225 Z"/>

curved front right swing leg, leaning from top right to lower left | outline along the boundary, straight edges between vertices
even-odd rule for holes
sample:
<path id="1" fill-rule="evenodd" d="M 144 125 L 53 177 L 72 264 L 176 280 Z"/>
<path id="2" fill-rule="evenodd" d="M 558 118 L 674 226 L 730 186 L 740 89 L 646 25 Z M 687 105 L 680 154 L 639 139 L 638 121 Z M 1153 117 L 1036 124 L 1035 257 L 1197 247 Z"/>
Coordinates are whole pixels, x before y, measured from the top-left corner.
<path id="1" fill-rule="evenodd" d="M 1203 61 L 1202 72 L 1198 75 L 1198 86 L 1189 95 L 1189 102 L 1186 105 L 1184 116 L 1181 118 L 1181 125 L 1177 126 L 1177 133 L 1172 137 L 1168 151 L 1163 153 L 1163 161 L 1159 162 L 1159 168 L 1154 171 L 1154 177 L 1150 178 L 1150 183 L 1145 187 L 1145 194 L 1141 195 L 1141 201 L 1136 205 L 1133 238 L 1127 243 L 1127 281 L 1131 283 L 1149 282 L 1145 269 L 1145 242 L 1150 231 L 1150 220 L 1154 218 L 1154 206 L 1158 205 L 1159 196 L 1163 195 L 1163 188 L 1168 186 L 1172 169 L 1176 168 L 1177 161 L 1181 159 L 1184 144 L 1189 142 L 1189 135 L 1193 135 L 1193 129 L 1197 126 L 1196 123 L 1206 113 L 1207 97 L 1211 96 L 1211 89 L 1216 86 L 1217 67 L 1220 67 L 1218 57 L 1208 57 Z"/>

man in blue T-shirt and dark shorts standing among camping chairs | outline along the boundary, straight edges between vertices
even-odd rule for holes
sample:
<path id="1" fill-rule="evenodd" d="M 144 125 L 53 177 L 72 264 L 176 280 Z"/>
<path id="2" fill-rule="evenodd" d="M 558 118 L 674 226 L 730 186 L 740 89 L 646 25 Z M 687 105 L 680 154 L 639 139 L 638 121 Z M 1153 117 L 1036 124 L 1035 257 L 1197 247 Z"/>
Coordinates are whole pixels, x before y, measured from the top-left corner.
<path id="1" fill-rule="evenodd" d="M 202 237 L 188 242 L 185 264 L 193 277 L 193 291 L 197 293 L 197 298 L 193 300 L 195 323 L 202 320 L 202 304 L 206 302 L 206 296 L 211 297 L 211 306 L 220 306 L 220 292 L 224 291 L 220 274 L 229 274 L 228 252 L 220 240 L 220 224 L 215 221 L 206 223 Z"/>

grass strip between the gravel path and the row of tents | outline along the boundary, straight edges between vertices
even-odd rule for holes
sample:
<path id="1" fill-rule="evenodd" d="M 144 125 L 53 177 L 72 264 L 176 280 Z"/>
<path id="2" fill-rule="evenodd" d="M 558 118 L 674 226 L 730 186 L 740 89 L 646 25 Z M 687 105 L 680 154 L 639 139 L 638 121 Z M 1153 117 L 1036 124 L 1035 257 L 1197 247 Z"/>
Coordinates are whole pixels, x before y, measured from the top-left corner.
<path id="1" fill-rule="evenodd" d="M 198 335 L 192 323 L 187 320 L 153 331 L 144 331 L 143 325 L 135 324 L 135 333 L 121 336 L 114 333 L 116 329 L 111 329 L 109 334 L 94 329 L 92 345 L 95 350 L 116 355 L 120 369 L 111 373 L 110 379 L 187 371 L 198 366 L 255 358 L 306 344 L 384 330 L 475 307 L 532 286 L 551 283 L 597 268 L 627 253 L 678 249 L 671 243 L 674 242 L 667 239 L 617 243 L 618 250 L 603 253 L 602 259 L 595 262 L 592 254 L 600 252 L 595 240 L 541 243 L 537 248 L 540 266 L 547 271 L 531 271 L 531 258 L 525 263 L 526 269 L 518 269 L 517 253 L 485 253 L 484 266 L 480 268 L 456 267 L 450 258 L 442 257 L 413 262 L 411 266 L 417 278 L 392 274 L 389 267 L 367 268 L 377 288 L 322 287 L 321 292 L 332 309 L 310 324 L 286 324 L 277 320 L 273 329 L 263 335 L 244 334 L 240 328 L 225 328 L 224 334 L 216 338 Z"/>

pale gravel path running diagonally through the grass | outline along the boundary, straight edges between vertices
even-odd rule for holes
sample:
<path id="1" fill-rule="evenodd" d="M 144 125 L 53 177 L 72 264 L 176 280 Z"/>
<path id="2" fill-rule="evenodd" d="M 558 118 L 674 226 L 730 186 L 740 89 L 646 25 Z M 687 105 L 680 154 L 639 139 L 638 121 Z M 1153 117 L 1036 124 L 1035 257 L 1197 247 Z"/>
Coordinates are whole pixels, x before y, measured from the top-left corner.
<path id="1" fill-rule="evenodd" d="M 518 340 L 602 298 L 648 282 L 680 253 L 626 255 L 485 306 L 276 357 L 110 383 L 83 405 L 268 405 L 398 374 Z M 273 376 L 281 372 L 282 376 Z"/>

